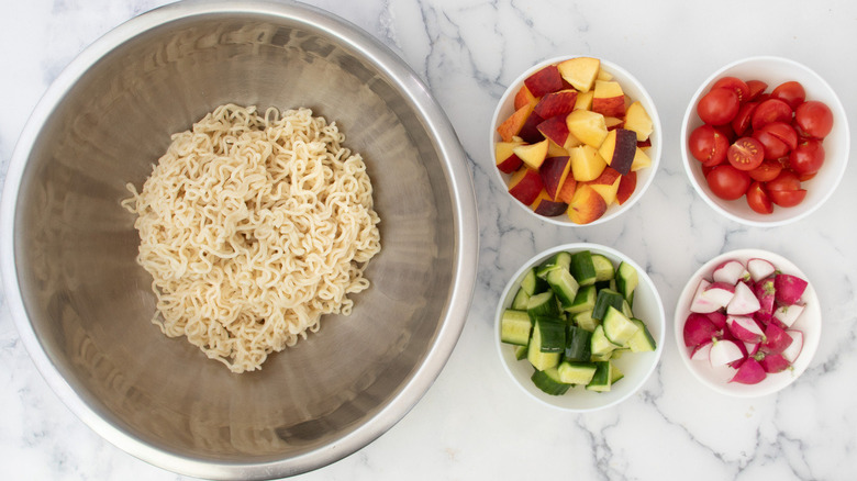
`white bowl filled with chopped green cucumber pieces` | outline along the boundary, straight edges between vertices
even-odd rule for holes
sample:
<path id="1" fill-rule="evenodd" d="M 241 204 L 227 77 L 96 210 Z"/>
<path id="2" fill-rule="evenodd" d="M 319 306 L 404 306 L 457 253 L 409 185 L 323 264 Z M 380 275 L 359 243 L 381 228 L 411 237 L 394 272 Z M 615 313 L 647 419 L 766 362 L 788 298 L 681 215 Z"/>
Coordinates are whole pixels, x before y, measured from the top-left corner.
<path id="1" fill-rule="evenodd" d="M 639 390 L 660 358 L 665 324 L 658 291 L 634 260 L 597 244 L 565 244 L 512 276 L 494 339 L 505 371 L 527 395 L 588 412 Z"/>

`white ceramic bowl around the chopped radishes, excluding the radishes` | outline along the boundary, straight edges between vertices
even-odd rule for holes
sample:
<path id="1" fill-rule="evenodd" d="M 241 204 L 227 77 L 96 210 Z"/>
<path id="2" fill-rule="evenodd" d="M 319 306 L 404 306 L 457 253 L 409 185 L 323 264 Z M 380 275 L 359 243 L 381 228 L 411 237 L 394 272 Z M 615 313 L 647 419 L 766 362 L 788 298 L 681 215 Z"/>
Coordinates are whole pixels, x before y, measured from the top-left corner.
<path id="1" fill-rule="evenodd" d="M 806 290 L 801 297 L 806 307 L 798 321 L 791 326 L 791 328 L 803 332 L 803 349 L 795 359 L 793 369 L 787 369 L 776 374 L 768 374 L 758 384 L 741 384 L 737 382 L 728 382 L 733 376 L 735 376 L 735 369 L 730 367 L 713 368 L 710 363 L 702 360 L 691 360 L 690 349 L 685 346 L 685 321 L 690 314 L 690 302 L 693 299 L 693 294 L 699 286 L 700 280 L 704 277 L 711 279 L 711 275 L 714 268 L 721 262 L 730 259 L 741 260 L 745 262 L 754 257 L 769 260 L 773 266 L 784 272 L 792 276 L 798 276 L 808 282 L 810 282 L 806 275 L 804 275 L 794 264 L 789 259 L 769 253 L 761 249 L 739 249 L 730 253 L 721 254 L 717 257 L 705 262 L 699 270 L 690 277 L 690 280 L 685 286 L 685 290 L 681 291 L 678 303 L 676 304 L 676 317 L 674 321 L 674 332 L 676 334 L 676 343 L 678 344 L 679 356 L 685 361 L 685 366 L 688 367 L 690 372 L 700 380 L 703 384 L 723 394 L 736 396 L 736 398 L 757 398 L 763 395 L 772 394 L 787 385 L 791 384 L 798 377 L 806 370 L 806 367 L 812 361 L 812 357 L 815 355 L 815 350 L 819 347 L 819 339 L 821 338 L 821 306 L 819 305 L 819 297 L 815 294 L 815 290 L 812 287 L 812 282 L 809 283 Z"/>

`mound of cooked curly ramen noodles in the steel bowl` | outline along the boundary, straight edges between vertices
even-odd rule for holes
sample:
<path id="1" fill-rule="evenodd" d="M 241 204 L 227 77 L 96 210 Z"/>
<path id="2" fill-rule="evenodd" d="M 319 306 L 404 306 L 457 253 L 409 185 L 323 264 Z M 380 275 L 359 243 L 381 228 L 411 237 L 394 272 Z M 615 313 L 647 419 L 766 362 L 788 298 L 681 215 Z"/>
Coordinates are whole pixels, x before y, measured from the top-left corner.
<path id="1" fill-rule="evenodd" d="M 379 217 L 363 158 L 309 109 L 221 105 L 172 135 L 123 205 L 154 278 L 153 322 L 233 372 L 347 315 L 369 287 Z"/>

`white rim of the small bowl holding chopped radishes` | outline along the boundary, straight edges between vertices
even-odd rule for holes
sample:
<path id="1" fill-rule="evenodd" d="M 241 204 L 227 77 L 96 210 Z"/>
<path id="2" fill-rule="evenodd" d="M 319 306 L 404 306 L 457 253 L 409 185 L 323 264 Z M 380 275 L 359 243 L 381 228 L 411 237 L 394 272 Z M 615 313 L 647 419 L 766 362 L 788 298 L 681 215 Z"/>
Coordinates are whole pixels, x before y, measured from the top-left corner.
<path id="1" fill-rule="evenodd" d="M 685 320 L 687 318 L 688 314 L 690 313 L 690 310 L 688 307 L 690 299 L 693 297 L 693 293 L 695 291 L 697 286 L 699 284 L 699 281 L 702 277 L 710 277 L 711 271 L 713 271 L 714 267 L 716 267 L 720 262 L 728 260 L 728 259 L 750 259 L 754 257 L 759 257 L 767 259 L 773 264 L 773 266 L 786 273 L 791 273 L 794 276 L 799 276 L 802 279 L 806 280 L 809 282 L 809 286 L 806 287 L 806 291 L 803 294 L 803 300 L 806 301 L 806 304 L 812 304 L 812 307 L 809 307 L 802 315 L 809 316 L 806 320 L 808 322 L 811 322 L 808 327 L 812 328 L 812 332 L 808 334 L 809 329 L 804 329 L 804 343 L 803 348 L 801 350 L 800 356 L 798 357 L 798 361 L 795 362 L 794 370 L 793 371 L 783 371 L 776 374 L 768 374 L 768 377 L 758 384 L 738 384 L 738 383 L 721 383 L 721 382 L 713 382 L 705 377 L 703 377 L 700 371 L 700 366 L 694 363 L 695 361 L 690 359 L 690 356 L 688 354 L 688 348 L 685 346 L 685 337 L 683 337 L 683 327 L 685 327 Z M 700 266 L 699 269 L 697 269 L 695 272 L 688 279 L 688 282 L 685 284 L 685 288 L 682 289 L 681 293 L 679 294 L 678 300 L 676 301 L 676 314 L 674 316 L 674 334 L 676 338 L 676 346 L 678 347 L 679 357 L 683 361 L 685 366 L 688 368 L 690 373 L 699 380 L 702 384 L 711 388 L 712 390 L 730 395 L 733 398 L 761 398 L 766 395 L 773 394 L 792 382 L 794 382 L 809 367 L 810 362 L 812 361 L 812 358 L 815 356 L 815 351 L 819 348 L 819 343 L 821 339 L 821 332 L 822 332 L 822 311 L 821 311 L 821 304 L 819 302 L 819 295 L 815 292 L 815 289 L 813 288 L 813 283 L 810 281 L 810 279 L 806 277 L 806 275 L 792 262 L 791 260 L 787 259 L 786 257 L 771 253 L 769 250 L 758 249 L 758 248 L 742 248 L 742 249 L 735 249 L 730 250 L 723 254 L 720 254 L 712 259 L 704 262 L 702 266 Z M 800 322 L 800 320 L 799 320 Z"/>

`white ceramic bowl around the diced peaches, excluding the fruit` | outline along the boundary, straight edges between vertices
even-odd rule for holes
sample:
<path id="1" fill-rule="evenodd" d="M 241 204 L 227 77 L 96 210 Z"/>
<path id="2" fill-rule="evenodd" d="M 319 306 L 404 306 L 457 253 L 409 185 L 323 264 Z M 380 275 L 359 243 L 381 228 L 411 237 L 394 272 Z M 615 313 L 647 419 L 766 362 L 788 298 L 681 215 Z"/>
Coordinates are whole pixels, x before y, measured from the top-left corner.
<path id="1" fill-rule="evenodd" d="M 558 64 L 563 60 L 567 60 L 569 58 L 579 57 L 580 55 L 571 55 L 571 56 L 564 56 L 564 57 L 555 57 L 549 58 L 547 60 L 544 60 L 537 65 L 534 65 L 528 70 L 521 74 L 520 77 L 517 77 L 512 83 L 509 85 L 509 88 L 505 90 L 505 93 L 503 93 L 503 97 L 500 98 L 500 102 L 497 104 L 497 109 L 494 110 L 493 118 L 491 119 L 491 131 L 489 132 L 488 137 L 488 152 L 491 154 L 491 171 L 494 172 L 494 178 L 497 178 L 498 182 L 500 182 L 500 186 L 503 190 L 509 190 L 509 179 L 512 177 L 511 175 L 501 172 L 494 165 L 494 144 L 497 142 L 500 142 L 500 135 L 497 133 L 497 126 L 502 122 L 503 120 L 508 119 L 509 115 L 514 113 L 514 100 L 515 100 L 515 93 L 521 89 L 521 86 L 524 85 L 524 80 L 526 80 L 527 77 L 535 74 L 536 71 L 547 67 L 552 64 Z M 652 97 L 649 97 L 646 89 L 643 87 L 643 83 L 639 82 L 639 80 L 636 79 L 633 75 L 631 75 L 627 70 L 623 69 L 622 67 L 617 66 L 616 64 L 613 64 L 612 61 L 604 60 L 601 58 L 601 68 L 603 68 L 606 72 L 613 76 L 615 80 L 619 81 L 619 83 L 622 86 L 622 90 L 625 92 L 626 96 L 631 98 L 632 101 L 638 100 L 643 107 L 646 109 L 646 112 L 652 118 L 652 124 L 654 126 L 654 131 L 650 135 L 650 142 L 652 147 L 646 152 L 646 154 L 652 159 L 652 166 L 645 169 L 641 169 L 637 171 L 637 187 L 634 190 L 634 193 L 628 198 L 625 203 L 622 205 L 619 205 L 616 203 L 613 203 L 610 205 L 604 212 L 604 215 L 599 217 L 596 221 L 590 222 L 589 224 L 575 224 L 571 222 L 567 215 L 558 215 L 556 217 L 546 217 L 544 215 L 536 214 L 533 212 L 532 209 L 530 209 L 528 205 L 524 205 L 521 202 L 519 202 L 516 199 L 514 199 L 512 195 L 508 195 L 509 202 L 512 202 L 516 204 L 519 208 L 525 210 L 530 213 L 530 215 L 534 215 L 535 217 L 538 217 L 542 221 L 556 224 L 556 225 L 565 225 L 565 226 L 578 226 L 578 227 L 585 227 L 589 225 L 597 225 L 604 222 L 610 221 L 611 219 L 615 219 L 621 213 L 627 211 L 631 209 L 646 192 L 648 187 L 652 184 L 652 181 L 655 179 L 655 172 L 658 169 L 658 166 L 660 165 L 660 152 L 661 152 L 661 142 L 663 142 L 663 128 L 660 126 L 660 118 L 658 116 L 658 111 L 655 108 L 655 101 L 652 100 Z"/>

